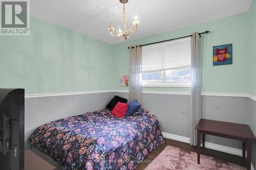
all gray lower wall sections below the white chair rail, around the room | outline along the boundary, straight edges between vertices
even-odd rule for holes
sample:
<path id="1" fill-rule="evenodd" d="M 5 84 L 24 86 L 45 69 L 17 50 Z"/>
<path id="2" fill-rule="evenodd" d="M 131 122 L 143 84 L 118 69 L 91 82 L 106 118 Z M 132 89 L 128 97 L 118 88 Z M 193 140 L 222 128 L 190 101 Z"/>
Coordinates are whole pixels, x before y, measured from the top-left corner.
<path id="1" fill-rule="evenodd" d="M 25 148 L 28 137 L 45 123 L 105 108 L 114 95 L 128 99 L 129 93 L 109 92 L 25 99 Z M 189 137 L 190 95 L 143 93 L 143 108 L 156 113 L 162 131 Z M 202 96 L 202 116 L 207 119 L 248 124 L 256 134 L 256 101 L 248 98 Z M 241 141 L 206 135 L 206 141 L 232 148 L 242 148 Z M 252 163 L 255 167 L 256 143 Z"/>

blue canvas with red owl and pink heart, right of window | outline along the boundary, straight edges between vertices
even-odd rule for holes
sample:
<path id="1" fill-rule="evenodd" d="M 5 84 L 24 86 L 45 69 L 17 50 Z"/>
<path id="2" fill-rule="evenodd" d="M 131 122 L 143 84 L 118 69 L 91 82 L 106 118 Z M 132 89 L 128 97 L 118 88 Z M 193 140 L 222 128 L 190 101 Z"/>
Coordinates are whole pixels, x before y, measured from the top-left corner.
<path id="1" fill-rule="evenodd" d="M 232 64 L 232 44 L 214 46 L 213 50 L 214 65 Z"/>

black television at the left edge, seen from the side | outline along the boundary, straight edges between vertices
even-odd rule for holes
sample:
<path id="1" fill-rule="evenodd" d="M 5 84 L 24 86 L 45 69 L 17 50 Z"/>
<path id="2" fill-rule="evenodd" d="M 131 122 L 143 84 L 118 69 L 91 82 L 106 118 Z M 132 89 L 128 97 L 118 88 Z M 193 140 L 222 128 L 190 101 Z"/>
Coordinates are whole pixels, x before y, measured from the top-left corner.
<path id="1" fill-rule="evenodd" d="M 24 89 L 0 88 L 0 170 L 24 170 Z"/>

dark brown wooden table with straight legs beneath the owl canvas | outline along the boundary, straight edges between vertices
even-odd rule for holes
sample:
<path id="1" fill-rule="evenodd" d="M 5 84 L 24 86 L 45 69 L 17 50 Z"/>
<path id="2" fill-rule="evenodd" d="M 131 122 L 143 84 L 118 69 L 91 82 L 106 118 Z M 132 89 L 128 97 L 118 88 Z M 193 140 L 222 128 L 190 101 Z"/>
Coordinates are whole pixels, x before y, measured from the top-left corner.
<path id="1" fill-rule="evenodd" d="M 197 163 L 200 164 L 200 148 L 201 148 L 201 133 L 203 134 L 203 148 L 205 142 L 205 134 L 220 136 L 230 139 L 241 140 L 243 145 L 243 158 L 245 159 L 245 148 L 247 142 L 247 160 L 246 167 L 251 169 L 251 149 L 252 140 L 255 139 L 248 125 L 234 124 L 228 122 L 220 122 L 216 120 L 201 119 L 197 129 Z"/>

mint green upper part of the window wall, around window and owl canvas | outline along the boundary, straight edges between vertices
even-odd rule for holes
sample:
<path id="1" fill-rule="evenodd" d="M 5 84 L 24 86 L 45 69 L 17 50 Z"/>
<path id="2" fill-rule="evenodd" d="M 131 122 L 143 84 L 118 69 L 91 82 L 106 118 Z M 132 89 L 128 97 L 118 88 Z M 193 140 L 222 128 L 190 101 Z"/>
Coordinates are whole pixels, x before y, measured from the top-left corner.
<path id="1" fill-rule="evenodd" d="M 141 25 L 143 27 L 143 25 Z M 115 89 L 121 75 L 128 74 L 127 46 L 177 38 L 198 31 L 211 31 L 202 36 L 202 92 L 247 93 L 247 13 L 189 26 L 180 30 L 148 36 L 114 45 Z M 233 64 L 212 66 L 212 46 L 232 43 Z M 144 90 L 189 91 L 189 88 L 144 88 Z"/>

